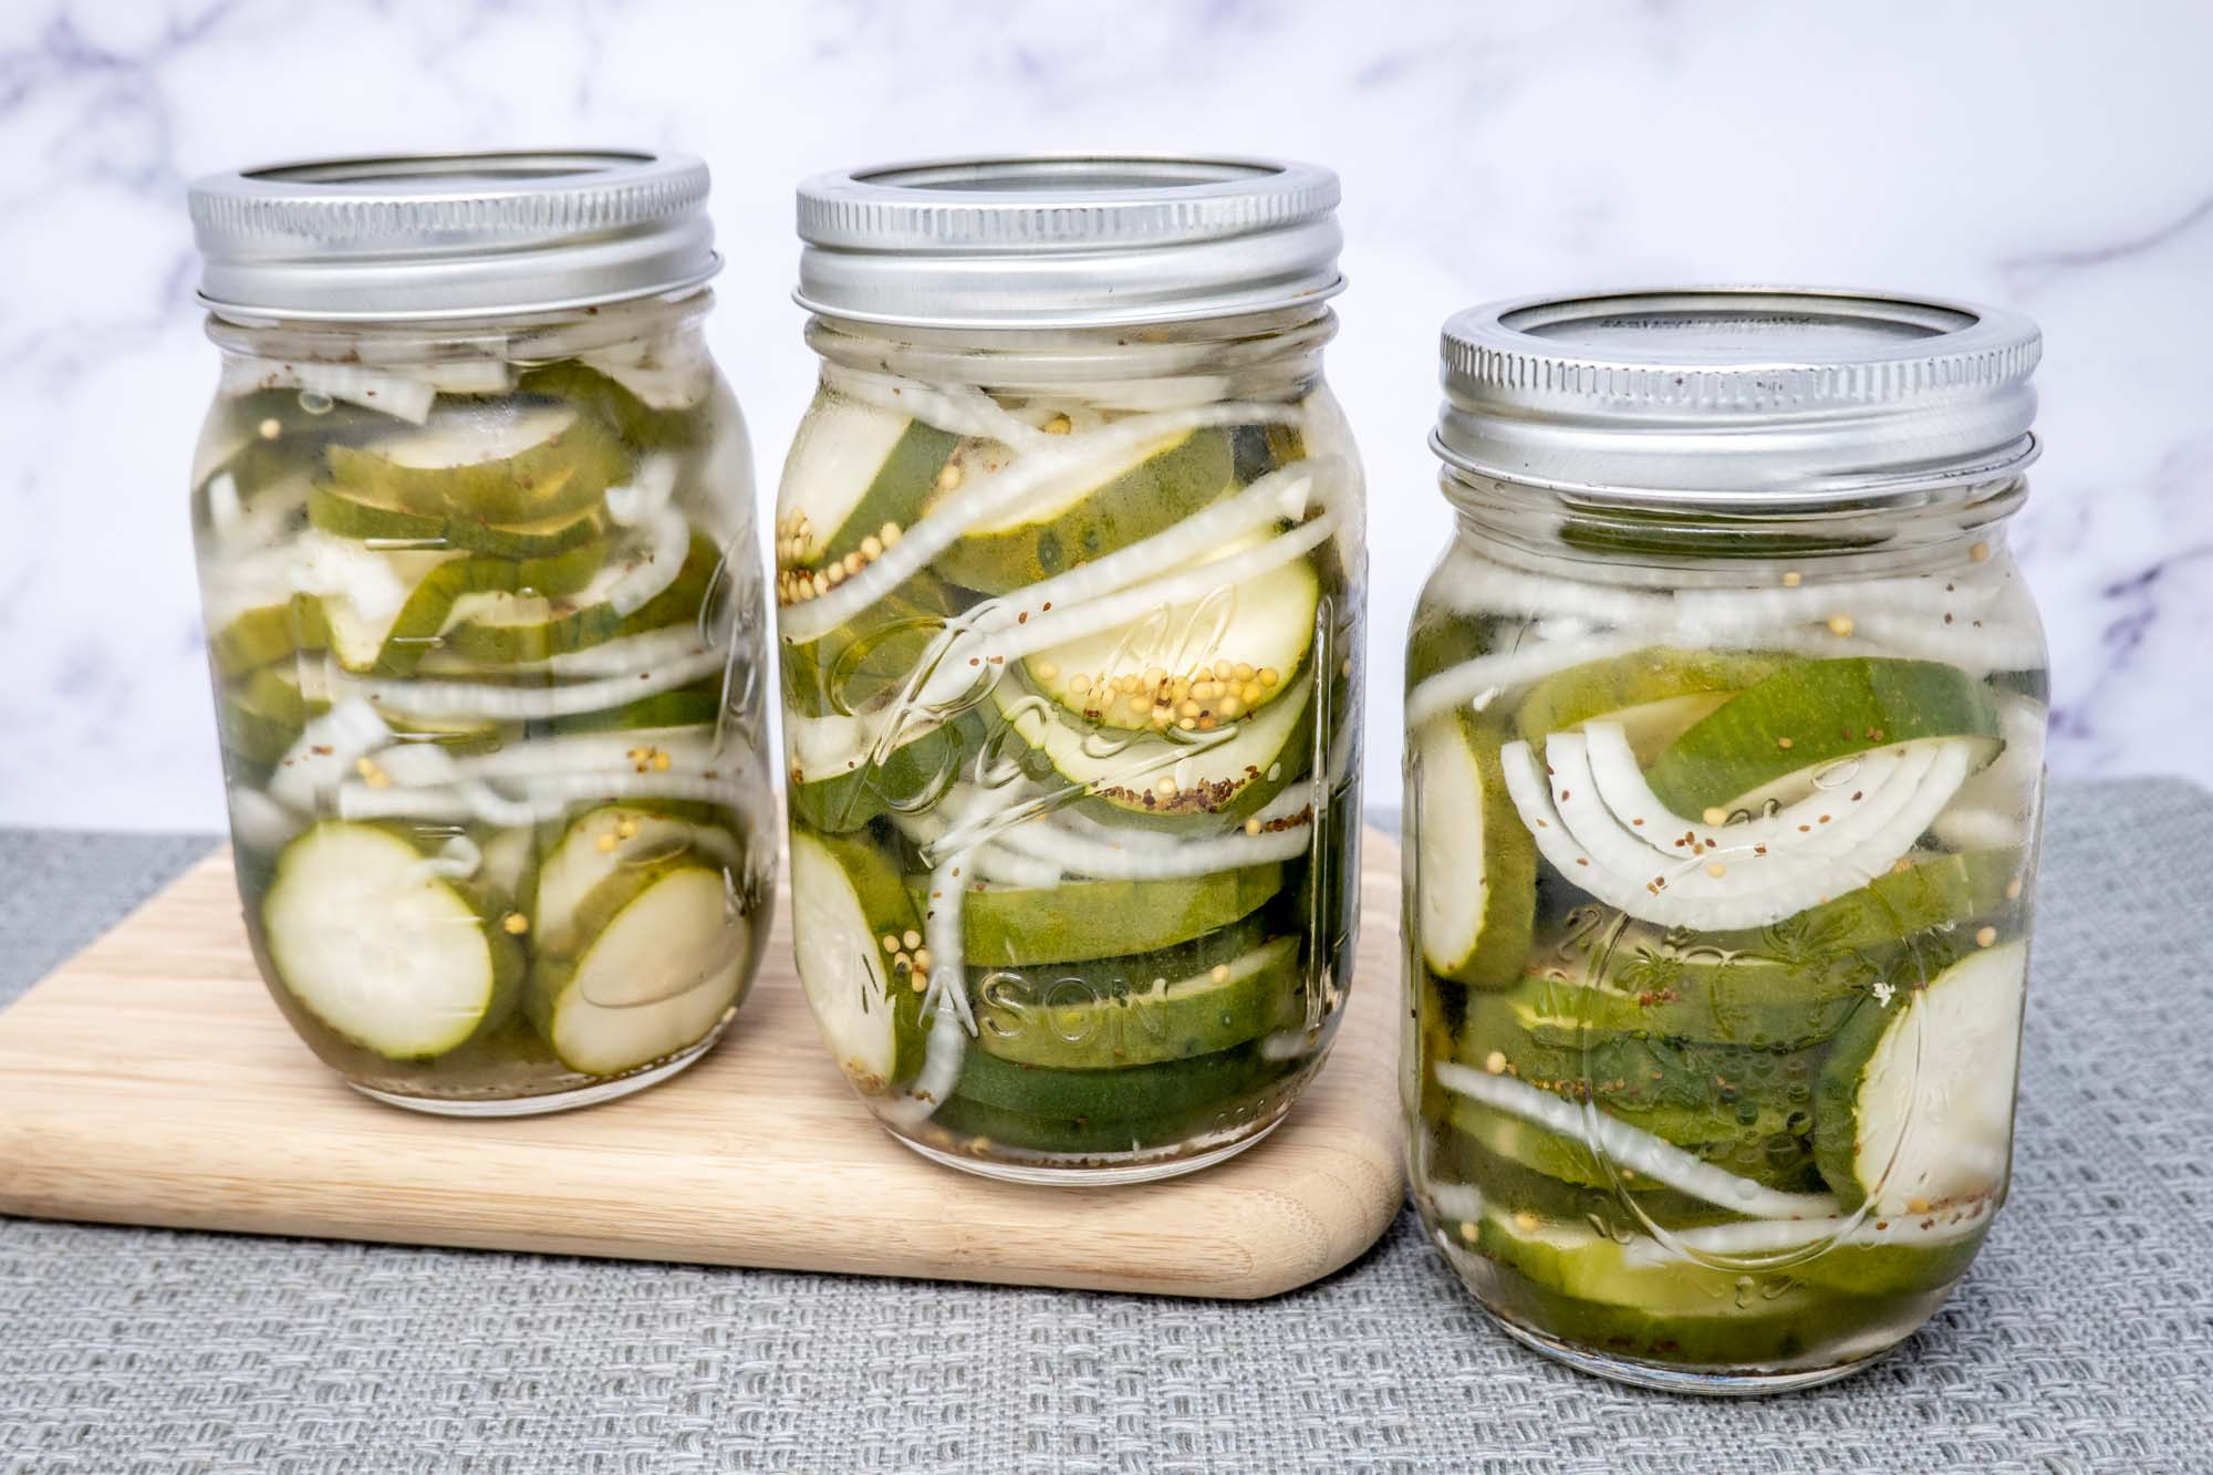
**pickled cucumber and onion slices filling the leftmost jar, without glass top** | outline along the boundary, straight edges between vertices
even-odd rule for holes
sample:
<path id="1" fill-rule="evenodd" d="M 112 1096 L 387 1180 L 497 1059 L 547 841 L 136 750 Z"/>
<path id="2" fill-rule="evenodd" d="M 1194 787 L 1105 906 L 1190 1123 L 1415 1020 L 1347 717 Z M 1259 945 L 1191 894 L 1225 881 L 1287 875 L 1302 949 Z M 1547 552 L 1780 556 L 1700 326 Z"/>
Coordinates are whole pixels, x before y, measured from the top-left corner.
<path id="1" fill-rule="evenodd" d="M 724 700 L 728 403 L 480 368 L 243 381 L 195 487 L 259 957 L 325 1059 L 412 1098 L 686 1056 L 772 864 L 759 713 Z"/>

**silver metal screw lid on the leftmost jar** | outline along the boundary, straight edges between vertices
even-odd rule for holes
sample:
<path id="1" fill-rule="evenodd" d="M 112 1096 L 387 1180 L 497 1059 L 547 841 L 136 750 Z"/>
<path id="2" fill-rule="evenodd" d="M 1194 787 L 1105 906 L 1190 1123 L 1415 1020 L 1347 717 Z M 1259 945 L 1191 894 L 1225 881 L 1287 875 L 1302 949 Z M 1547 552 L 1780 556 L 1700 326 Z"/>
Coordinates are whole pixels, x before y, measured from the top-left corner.
<path id="1" fill-rule="evenodd" d="M 686 153 L 445 153 L 270 164 L 190 188 L 199 301 L 224 317 L 553 312 L 721 266 Z"/>

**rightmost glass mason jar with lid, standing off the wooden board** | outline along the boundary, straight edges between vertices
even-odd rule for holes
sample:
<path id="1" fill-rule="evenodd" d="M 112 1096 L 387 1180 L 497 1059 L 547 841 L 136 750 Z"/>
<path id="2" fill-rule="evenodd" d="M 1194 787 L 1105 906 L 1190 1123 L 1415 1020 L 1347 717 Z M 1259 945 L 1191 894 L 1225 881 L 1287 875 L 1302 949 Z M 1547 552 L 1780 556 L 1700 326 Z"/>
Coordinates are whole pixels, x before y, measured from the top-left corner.
<path id="1" fill-rule="evenodd" d="M 1407 642 L 1414 1200 L 1523 1342 L 1839 1378 L 2005 1198 L 2047 715 L 2032 323 L 1682 290 L 1445 326 Z"/>

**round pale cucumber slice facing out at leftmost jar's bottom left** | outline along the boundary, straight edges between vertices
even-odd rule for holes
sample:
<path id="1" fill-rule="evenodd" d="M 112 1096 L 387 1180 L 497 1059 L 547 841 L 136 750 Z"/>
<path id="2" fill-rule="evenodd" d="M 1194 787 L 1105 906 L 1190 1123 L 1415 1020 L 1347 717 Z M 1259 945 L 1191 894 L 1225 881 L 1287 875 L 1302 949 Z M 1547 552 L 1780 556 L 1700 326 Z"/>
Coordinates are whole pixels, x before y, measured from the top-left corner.
<path id="1" fill-rule="evenodd" d="M 505 1019 L 522 955 L 401 835 L 323 822 L 277 857 L 261 899 L 277 981 L 339 1034 L 427 1061 Z"/>

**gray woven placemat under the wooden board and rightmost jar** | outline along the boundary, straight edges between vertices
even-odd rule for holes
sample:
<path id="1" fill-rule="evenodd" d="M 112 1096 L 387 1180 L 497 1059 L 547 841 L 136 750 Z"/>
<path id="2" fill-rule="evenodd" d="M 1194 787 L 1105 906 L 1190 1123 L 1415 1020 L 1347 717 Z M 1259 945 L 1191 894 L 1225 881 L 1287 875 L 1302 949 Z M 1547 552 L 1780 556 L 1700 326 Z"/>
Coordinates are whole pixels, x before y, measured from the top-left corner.
<path id="1" fill-rule="evenodd" d="M 204 846 L 7 837 L 0 999 Z M 2014 1198 L 1830 1389 L 1556 1369 L 1410 1216 L 1264 1304 L 0 1220 L 0 1471 L 2213 1471 L 2209 855 L 2054 793 Z"/>

